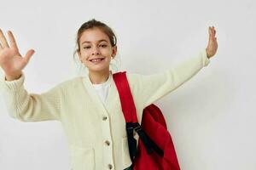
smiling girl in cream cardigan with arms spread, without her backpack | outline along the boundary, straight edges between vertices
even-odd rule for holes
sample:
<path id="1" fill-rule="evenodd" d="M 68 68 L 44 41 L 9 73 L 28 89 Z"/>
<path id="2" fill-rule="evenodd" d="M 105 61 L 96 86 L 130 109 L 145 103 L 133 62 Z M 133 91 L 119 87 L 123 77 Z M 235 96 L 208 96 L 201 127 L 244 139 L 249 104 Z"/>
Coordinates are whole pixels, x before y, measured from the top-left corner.
<path id="1" fill-rule="evenodd" d="M 127 73 L 141 122 L 143 108 L 178 88 L 208 65 L 218 44 L 214 27 L 209 27 L 206 49 L 177 65 L 153 75 Z M 88 75 L 61 82 L 43 94 L 28 94 L 22 71 L 34 51 L 19 53 L 15 37 L 9 43 L 0 30 L 0 66 L 5 75 L 1 89 L 10 116 L 22 122 L 58 120 L 67 135 L 73 170 L 129 169 L 131 159 L 119 94 L 109 65 L 117 54 L 111 28 L 97 20 L 85 22 L 78 31 L 76 53 Z"/>

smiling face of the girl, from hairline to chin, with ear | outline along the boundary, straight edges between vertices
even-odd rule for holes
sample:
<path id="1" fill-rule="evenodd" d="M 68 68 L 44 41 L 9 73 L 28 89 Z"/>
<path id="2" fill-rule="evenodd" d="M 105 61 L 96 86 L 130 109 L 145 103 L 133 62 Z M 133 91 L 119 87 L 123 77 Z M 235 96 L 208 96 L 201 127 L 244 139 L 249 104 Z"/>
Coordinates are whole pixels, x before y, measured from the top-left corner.
<path id="1" fill-rule="evenodd" d="M 79 44 L 79 59 L 89 71 L 109 71 L 110 60 L 116 55 L 117 47 L 111 46 L 107 34 L 99 28 L 86 30 Z"/>

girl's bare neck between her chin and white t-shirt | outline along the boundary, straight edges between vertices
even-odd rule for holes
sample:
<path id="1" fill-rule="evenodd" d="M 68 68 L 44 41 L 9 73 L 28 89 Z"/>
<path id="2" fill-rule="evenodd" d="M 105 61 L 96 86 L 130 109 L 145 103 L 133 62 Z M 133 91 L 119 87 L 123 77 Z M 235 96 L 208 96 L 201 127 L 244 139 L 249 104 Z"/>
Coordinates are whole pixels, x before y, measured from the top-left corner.
<path id="1" fill-rule="evenodd" d="M 89 71 L 89 78 L 92 84 L 102 84 L 107 82 L 109 77 L 108 71 Z"/>

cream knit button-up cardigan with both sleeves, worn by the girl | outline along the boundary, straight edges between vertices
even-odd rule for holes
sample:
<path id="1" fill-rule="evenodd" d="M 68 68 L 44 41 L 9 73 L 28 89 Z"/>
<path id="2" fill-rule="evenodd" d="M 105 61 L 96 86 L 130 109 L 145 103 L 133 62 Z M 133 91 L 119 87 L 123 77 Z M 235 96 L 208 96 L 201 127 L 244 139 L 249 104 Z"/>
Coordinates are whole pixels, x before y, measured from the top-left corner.
<path id="1" fill-rule="evenodd" d="M 127 72 L 138 122 L 142 120 L 143 108 L 170 94 L 209 62 L 204 49 L 161 73 Z M 106 105 L 102 104 L 88 75 L 60 82 L 42 94 L 28 93 L 24 80 L 24 72 L 10 82 L 1 77 L 0 89 L 9 115 L 22 122 L 60 121 L 67 135 L 73 170 L 123 170 L 131 165 L 125 118 L 113 79 Z"/>

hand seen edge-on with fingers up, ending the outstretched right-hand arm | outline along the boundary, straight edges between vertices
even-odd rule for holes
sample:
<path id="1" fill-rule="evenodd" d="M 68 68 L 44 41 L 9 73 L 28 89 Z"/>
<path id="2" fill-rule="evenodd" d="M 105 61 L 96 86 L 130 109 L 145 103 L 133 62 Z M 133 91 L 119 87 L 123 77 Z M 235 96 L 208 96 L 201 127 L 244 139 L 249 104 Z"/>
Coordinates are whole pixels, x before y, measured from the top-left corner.
<path id="1" fill-rule="evenodd" d="M 210 59 L 213 55 L 216 54 L 218 49 L 218 42 L 216 36 L 216 31 L 214 29 L 214 26 L 209 26 L 209 41 L 207 45 L 207 57 Z"/>

